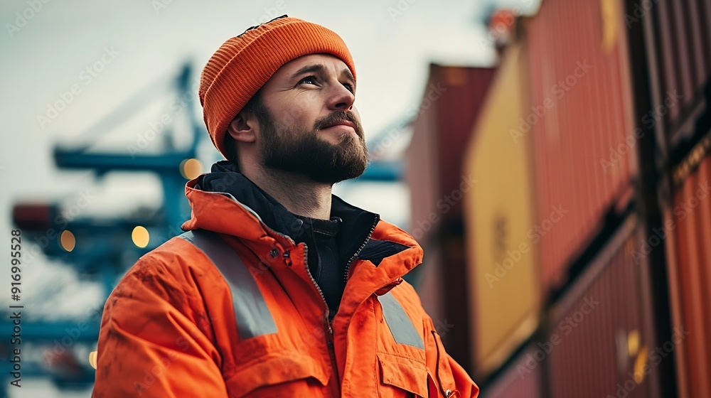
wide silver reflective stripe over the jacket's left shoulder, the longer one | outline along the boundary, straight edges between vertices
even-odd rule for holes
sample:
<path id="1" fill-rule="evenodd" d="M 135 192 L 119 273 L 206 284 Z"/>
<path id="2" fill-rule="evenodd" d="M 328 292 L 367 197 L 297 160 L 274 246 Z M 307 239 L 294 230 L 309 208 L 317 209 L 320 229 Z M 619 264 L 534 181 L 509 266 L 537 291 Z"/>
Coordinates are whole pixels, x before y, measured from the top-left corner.
<path id="1" fill-rule="evenodd" d="M 213 232 L 204 230 L 188 231 L 180 237 L 205 253 L 223 274 L 232 292 L 232 307 L 235 309 L 237 330 L 242 340 L 277 333 L 277 325 L 264 302 L 257 281 L 227 242 Z"/>

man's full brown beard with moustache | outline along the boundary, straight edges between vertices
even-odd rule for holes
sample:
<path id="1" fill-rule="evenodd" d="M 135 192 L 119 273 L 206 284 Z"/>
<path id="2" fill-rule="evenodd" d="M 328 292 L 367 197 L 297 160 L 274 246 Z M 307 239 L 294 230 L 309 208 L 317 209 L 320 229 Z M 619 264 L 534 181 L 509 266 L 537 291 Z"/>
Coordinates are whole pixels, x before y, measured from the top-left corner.
<path id="1" fill-rule="evenodd" d="M 363 127 L 353 113 L 336 111 L 317 120 L 313 129 L 298 129 L 277 124 L 269 109 L 261 108 L 255 114 L 260 122 L 264 167 L 333 185 L 361 176 L 368 166 Z M 353 134 L 342 134 L 338 143 L 332 144 L 319 137 L 321 129 L 341 120 L 355 124 L 357 139 Z"/>

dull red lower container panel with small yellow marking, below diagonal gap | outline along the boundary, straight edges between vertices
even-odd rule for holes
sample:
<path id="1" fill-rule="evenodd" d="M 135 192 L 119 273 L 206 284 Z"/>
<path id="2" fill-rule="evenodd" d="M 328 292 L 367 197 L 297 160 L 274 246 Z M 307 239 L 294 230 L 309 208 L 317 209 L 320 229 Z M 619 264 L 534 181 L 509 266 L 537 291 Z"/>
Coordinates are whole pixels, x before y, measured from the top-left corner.
<path id="1" fill-rule="evenodd" d="M 648 265 L 631 215 L 552 308 L 533 357 L 548 366 L 550 397 L 658 397 Z"/>

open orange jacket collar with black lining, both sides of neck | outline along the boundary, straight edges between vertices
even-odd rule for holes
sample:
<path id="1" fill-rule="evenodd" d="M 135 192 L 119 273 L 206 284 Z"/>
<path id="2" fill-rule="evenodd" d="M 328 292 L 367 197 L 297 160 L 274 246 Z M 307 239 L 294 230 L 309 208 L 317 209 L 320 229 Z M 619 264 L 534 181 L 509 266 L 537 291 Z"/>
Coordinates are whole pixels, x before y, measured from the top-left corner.
<path id="1" fill-rule="evenodd" d="M 229 161 L 219 161 L 213 164 L 210 173 L 188 181 L 186 196 L 193 211 L 191 220 L 183 224 L 183 230 L 204 229 L 240 237 L 252 242 L 250 246 L 256 246 L 253 249 L 262 245 L 272 247 L 274 240 L 283 247 L 294 242 L 307 245 L 311 242 L 311 225 L 290 213 Z M 369 260 L 379 267 L 384 259 L 415 249 L 410 252 L 415 258 L 406 262 L 406 269 L 394 274 L 388 272 L 399 274 L 398 277 L 422 261 L 419 244 L 400 228 L 380 220 L 378 214 L 333 195 L 333 216 L 343 220 L 342 233 L 338 235 L 342 259 Z"/>

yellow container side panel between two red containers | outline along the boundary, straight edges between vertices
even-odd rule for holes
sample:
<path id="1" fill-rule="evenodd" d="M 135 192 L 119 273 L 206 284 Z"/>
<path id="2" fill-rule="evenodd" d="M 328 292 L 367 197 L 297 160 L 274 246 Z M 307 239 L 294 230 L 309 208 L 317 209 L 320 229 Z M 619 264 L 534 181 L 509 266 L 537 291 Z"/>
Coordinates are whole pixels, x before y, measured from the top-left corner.
<path id="1" fill-rule="evenodd" d="M 472 358 L 479 378 L 496 370 L 538 327 L 540 282 L 533 227 L 532 137 L 510 141 L 528 109 L 523 45 L 507 48 L 474 127 L 463 175 Z"/>

